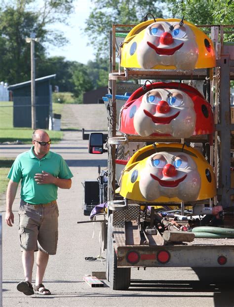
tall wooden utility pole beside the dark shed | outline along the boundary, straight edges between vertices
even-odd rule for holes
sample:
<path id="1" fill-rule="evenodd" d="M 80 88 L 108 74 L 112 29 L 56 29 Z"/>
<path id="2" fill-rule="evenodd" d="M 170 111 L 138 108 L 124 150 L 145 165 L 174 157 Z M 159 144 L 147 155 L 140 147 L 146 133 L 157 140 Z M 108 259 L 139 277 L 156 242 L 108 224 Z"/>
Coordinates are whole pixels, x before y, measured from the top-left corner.
<path id="1" fill-rule="evenodd" d="M 36 91 L 35 91 L 35 42 L 39 42 L 35 33 L 30 34 L 30 38 L 26 38 L 27 43 L 31 43 L 31 117 L 32 117 L 32 129 L 36 127 Z"/>

